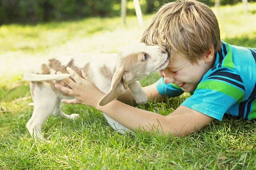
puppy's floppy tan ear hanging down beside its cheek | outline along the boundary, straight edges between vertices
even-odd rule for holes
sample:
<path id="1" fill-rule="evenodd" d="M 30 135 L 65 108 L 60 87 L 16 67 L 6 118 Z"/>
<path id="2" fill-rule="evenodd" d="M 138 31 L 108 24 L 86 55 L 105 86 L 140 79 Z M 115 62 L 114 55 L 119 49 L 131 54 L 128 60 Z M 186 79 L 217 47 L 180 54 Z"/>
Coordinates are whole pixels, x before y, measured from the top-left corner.
<path id="1" fill-rule="evenodd" d="M 121 94 L 124 94 L 128 88 L 127 81 L 123 80 L 124 68 L 117 69 L 112 77 L 111 88 L 108 94 L 106 94 L 100 101 L 99 105 L 104 106 L 116 99 Z"/>

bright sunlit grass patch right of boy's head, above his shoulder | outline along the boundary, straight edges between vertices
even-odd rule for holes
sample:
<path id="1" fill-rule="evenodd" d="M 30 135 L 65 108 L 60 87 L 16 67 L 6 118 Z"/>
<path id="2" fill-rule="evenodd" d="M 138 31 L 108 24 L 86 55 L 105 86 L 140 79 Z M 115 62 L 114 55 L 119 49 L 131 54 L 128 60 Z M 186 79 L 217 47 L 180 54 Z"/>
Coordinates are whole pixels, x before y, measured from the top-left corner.
<path id="1" fill-rule="evenodd" d="M 255 48 L 256 42 L 256 8 L 250 4 L 250 12 L 244 13 L 242 4 L 225 6 L 220 9 L 218 21 L 221 39 L 235 45 Z"/>

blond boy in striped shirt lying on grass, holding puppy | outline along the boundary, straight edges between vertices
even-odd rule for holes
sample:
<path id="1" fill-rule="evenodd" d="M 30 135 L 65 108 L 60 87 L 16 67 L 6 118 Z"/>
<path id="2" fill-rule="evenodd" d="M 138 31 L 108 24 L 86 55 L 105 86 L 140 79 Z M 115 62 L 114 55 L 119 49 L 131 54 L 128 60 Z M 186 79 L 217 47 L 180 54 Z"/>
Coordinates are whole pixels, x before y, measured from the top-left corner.
<path id="1" fill-rule="evenodd" d="M 95 86 L 68 69 L 76 82 L 72 88 L 56 88 L 74 96 L 69 104 L 84 104 L 103 111 L 131 130 L 188 135 L 224 113 L 246 119 L 256 118 L 256 49 L 229 45 L 220 40 L 218 21 L 212 10 L 195 0 L 167 3 L 157 12 L 142 41 L 164 45 L 171 57 L 163 77 L 144 87 L 148 99 L 164 99 L 192 92 L 172 114 L 163 116 L 140 110 L 118 100 L 100 107 L 104 96 Z M 119 97 L 128 102 L 131 92 Z"/>

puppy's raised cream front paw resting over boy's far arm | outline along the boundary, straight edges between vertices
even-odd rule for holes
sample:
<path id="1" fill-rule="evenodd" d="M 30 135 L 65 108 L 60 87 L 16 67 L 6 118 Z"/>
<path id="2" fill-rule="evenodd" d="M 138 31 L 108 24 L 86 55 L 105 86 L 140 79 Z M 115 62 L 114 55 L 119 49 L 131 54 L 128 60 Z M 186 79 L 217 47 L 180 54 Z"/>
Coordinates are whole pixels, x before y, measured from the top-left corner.
<path id="1" fill-rule="evenodd" d="M 137 104 L 146 104 L 148 102 L 147 95 L 143 91 L 139 81 L 134 81 L 132 83 L 129 83 L 128 86 Z"/>

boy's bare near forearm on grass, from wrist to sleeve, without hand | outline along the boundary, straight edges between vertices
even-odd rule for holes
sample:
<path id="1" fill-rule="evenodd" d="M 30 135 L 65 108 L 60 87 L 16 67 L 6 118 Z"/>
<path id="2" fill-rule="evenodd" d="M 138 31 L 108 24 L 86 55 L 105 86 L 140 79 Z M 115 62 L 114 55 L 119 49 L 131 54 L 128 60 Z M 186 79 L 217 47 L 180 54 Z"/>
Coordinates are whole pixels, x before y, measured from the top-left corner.
<path id="1" fill-rule="evenodd" d="M 175 136 L 186 136 L 214 120 L 185 106 L 178 107 L 167 116 L 134 108 L 117 100 L 103 107 L 98 106 L 97 109 L 131 130 L 141 129 L 164 135 L 171 133 Z"/>

